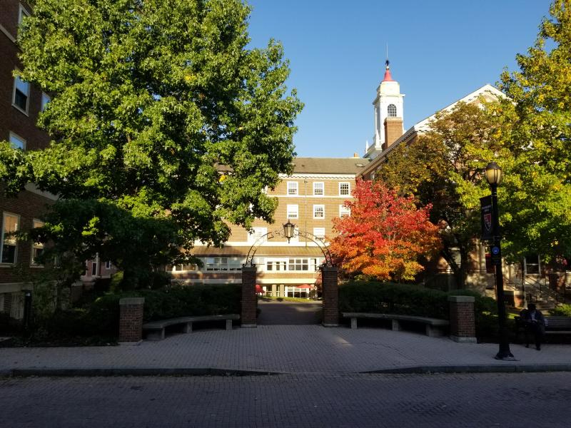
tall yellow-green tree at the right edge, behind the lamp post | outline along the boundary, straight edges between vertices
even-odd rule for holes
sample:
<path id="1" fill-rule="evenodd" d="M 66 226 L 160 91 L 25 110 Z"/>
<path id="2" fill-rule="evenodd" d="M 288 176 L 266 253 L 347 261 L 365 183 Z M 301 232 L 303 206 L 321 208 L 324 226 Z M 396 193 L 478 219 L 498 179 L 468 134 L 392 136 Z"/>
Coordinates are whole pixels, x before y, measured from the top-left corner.
<path id="1" fill-rule="evenodd" d="M 552 3 L 535 46 L 516 59 L 520 71 L 502 73 L 509 100 L 497 111 L 511 124 L 502 138 L 512 156 L 498 158 L 505 253 L 512 261 L 528 253 L 571 258 L 570 0 Z"/>

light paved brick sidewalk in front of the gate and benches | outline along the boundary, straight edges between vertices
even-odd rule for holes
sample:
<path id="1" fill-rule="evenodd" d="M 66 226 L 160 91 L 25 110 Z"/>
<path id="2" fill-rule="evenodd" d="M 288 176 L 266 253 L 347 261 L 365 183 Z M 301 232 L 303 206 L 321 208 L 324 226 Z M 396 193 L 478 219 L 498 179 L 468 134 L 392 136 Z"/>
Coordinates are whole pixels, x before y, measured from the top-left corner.
<path id="1" fill-rule="evenodd" d="M 202 330 L 136 346 L 1 348 L 0 374 L 268 374 L 571 371 L 570 345 L 511 345 L 520 361 L 494 360 L 495 344 L 380 328 L 263 325 Z"/>

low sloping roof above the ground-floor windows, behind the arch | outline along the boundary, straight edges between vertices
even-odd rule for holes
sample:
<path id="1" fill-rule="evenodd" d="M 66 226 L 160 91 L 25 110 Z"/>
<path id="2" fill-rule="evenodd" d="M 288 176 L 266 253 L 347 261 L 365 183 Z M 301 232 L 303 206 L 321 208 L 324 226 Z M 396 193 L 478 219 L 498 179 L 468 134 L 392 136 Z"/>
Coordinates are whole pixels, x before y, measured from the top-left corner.
<path id="1" fill-rule="evenodd" d="M 243 256 L 246 257 L 248 255 L 248 251 L 251 247 L 234 247 L 231 245 L 226 245 L 223 248 L 216 248 L 216 247 L 195 247 L 192 250 L 193 255 L 196 257 L 203 257 L 203 256 L 214 256 L 214 257 L 221 257 L 221 256 Z M 320 250 L 319 247 L 315 246 L 292 246 L 287 245 L 284 243 L 283 246 L 272 246 L 272 247 L 265 247 L 261 245 L 256 250 L 256 257 L 263 257 L 263 256 L 271 256 L 271 257 L 323 257 L 323 252 Z"/>

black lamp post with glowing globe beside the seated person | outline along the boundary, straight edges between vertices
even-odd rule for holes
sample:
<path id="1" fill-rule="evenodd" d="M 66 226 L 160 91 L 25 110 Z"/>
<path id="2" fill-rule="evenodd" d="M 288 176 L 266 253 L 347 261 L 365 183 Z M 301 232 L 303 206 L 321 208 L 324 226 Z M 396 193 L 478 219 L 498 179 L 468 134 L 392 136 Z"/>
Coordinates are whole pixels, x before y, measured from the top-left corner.
<path id="1" fill-rule="evenodd" d="M 486 166 L 486 180 L 492 190 L 492 263 L 495 265 L 495 284 L 497 289 L 497 323 L 500 327 L 500 350 L 496 360 L 515 361 L 510 351 L 510 341 L 507 339 L 505 325 L 504 277 L 502 274 L 502 250 L 500 245 L 500 214 L 497 209 L 497 185 L 502 181 L 502 169 L 495 162 Z"/>

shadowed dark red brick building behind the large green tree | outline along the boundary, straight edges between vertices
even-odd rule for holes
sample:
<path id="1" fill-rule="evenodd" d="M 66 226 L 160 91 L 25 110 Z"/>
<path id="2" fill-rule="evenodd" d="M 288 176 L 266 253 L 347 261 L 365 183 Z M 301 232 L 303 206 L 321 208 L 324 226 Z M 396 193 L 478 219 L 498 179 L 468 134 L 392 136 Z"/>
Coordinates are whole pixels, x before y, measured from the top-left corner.
<path id="1" fill-rule="evenodd" d="M 50 98 L 39 88 L 14 78 L 13 72 L 21 67 L 16 45 L 18 26 L 24 16 L 31 13 L 29 4 L 19 0 L 2 0 L 0 7 L 0 141 L 9 141 L 21 150 L 37 150 L 49 143 L 46 133 L 36 128 L 40 111 Z M 0 183 L 0 190 L 3 183 Z M 0 247 L 0 312 L 16 319 L 22 316 L 23 292 L 29 284 L 29 274 L 45 269 L 36 263 L 42 245 L 16 240 L 9 235 L 29 230 L 40 224 L 39 216 L 54 195 L 36 189 L 34 183 L 17 198 L 6 198 L 0 193 L 1 247 Z"/>

